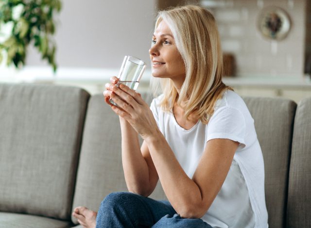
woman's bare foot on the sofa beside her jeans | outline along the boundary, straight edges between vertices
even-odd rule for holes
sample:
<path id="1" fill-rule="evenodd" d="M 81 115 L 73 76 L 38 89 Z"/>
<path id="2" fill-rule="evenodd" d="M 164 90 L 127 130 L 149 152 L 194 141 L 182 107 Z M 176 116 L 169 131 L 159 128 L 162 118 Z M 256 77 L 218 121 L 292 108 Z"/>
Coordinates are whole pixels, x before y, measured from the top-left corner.
<path id="1" fill-rule="evenodd" d="M 78 222 L 84 228 L 96 227 L 97 212 L 90 210 L 86 207 L 77 207 L 73 209 L 72 216 L 78 219 Z"/>

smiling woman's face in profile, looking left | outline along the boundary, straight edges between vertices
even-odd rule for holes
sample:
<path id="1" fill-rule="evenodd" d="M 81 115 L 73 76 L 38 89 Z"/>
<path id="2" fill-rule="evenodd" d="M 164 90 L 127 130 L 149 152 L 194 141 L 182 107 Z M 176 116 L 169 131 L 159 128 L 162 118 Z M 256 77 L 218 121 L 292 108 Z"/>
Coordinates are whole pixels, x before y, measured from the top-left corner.
<path id="1" fill-rule="evenodd" d="M 181 84 L 184 82 L 184 60 L 177 50 L 172 31 L 164 20 L 155 29 L 149 54 L 154 77 L 171 78 Z"/>

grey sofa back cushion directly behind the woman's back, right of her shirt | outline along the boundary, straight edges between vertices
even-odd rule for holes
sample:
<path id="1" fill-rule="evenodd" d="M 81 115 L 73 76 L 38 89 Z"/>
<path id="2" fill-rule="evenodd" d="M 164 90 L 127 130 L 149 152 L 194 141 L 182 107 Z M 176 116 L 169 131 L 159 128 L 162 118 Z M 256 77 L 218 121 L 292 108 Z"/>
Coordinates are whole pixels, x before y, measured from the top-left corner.
<path id="1" fill-rule="evenodd" d="M 296 103 L 282 98 L 243 99 L 254 118 L 263 153 L 269 227 L 283 228 Z"/>

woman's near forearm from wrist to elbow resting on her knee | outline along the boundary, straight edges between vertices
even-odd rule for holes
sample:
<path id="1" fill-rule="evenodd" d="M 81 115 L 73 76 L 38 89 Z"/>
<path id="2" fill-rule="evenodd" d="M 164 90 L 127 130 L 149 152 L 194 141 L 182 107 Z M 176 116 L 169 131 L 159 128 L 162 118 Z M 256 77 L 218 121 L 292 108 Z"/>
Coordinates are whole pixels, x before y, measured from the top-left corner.
<path id="1" fill-rule="evenodd" d="M 201 191 L 178 163 L 162 133 L 145 139 L 155 164 L 163 190 L 173 208 L 183 217 L 200 217 L 192 214 L 202 203 Z"/>

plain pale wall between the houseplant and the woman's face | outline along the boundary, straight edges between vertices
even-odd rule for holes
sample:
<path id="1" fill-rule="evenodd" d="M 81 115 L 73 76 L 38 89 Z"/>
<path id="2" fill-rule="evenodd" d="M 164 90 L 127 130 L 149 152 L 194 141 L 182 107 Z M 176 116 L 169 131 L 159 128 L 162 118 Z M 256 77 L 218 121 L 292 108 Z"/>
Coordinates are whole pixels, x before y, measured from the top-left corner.
<path id="1" fill-rule="evenodd" d="M 150 66 L 155 0 L 63 0 L 55 39 L 59 68 L 119 69 L 125 55 Z M 47 66 L 30 47 L 27 66 Z"/>

